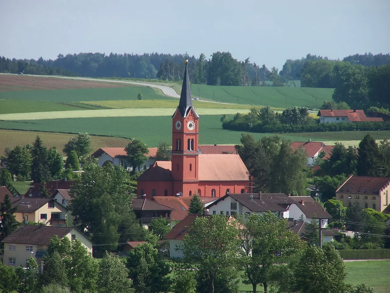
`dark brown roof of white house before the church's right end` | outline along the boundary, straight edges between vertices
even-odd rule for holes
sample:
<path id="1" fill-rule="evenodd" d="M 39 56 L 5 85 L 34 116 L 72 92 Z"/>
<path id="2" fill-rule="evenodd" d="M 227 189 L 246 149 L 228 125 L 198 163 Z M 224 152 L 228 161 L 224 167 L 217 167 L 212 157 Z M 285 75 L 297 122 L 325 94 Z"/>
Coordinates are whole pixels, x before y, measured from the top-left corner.
<path id="1" fill-rule="evenodd" d="M 253 198 L 251 198 L 251 195 Z M 225 200 L 227 197 L 234 198 L 234 200 L 245 206 L 251 212 L 285 212 L 286 209 L 279 204 L 294 203 L 294 201 L 290 200 L 284 193 L 262 193 L 260 198 L 258 193 L 238 193 L 224 195 L 208 205 L 207 208 L 218 204 L 218 202 Z"/>

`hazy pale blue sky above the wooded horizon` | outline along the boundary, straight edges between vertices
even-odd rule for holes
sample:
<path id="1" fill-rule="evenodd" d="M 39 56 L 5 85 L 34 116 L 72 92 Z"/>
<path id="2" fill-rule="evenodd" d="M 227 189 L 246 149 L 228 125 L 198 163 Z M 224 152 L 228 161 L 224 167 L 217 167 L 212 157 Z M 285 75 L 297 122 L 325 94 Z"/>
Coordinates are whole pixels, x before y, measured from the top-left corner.
<path id="1" fill-rule="evenodd" d="M 185 53 L 282 69 L 306 54 L 390 52 L 390 0 L 0 0 L 0 55 Z"/>

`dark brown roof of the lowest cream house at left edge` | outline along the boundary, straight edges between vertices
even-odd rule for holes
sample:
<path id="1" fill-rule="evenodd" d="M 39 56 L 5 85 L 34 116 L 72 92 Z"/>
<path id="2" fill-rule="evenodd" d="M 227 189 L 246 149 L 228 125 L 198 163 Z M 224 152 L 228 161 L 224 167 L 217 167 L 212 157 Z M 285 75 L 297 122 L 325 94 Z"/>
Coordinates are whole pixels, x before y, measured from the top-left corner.
<path id="1" fill-rule="evenodd" d="M 58 226 L 28 226 L 22 225 L 11 235 L 3 239 L 4 243 L 20 243 L 31 245 L 50 245 L 50 238 L 57 235 L 58 238 L 64 238 L 74 227 Z"/>

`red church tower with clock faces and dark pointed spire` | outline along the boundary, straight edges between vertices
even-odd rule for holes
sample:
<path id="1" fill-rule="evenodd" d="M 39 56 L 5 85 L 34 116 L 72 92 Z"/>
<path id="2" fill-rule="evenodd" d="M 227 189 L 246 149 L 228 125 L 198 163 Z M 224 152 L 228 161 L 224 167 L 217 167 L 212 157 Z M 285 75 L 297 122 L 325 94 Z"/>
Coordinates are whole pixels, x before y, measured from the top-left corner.
<path id="1" fill-rule="evenodd" d="M 188 60 L 184 70 L 179 106 L 172 116 L 173 195 L 191 196 L 198 192 L 199 115 L 191 100 Z"/>

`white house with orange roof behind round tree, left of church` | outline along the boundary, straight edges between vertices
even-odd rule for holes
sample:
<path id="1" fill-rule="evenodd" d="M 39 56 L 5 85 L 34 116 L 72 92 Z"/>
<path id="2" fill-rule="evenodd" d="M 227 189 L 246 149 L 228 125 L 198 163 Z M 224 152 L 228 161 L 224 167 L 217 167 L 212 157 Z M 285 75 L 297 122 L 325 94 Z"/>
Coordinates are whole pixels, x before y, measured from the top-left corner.
<path id="1" fill-rule="evenodd" d="M 148 150 L 149 154 L 147 156 L 149 159 L 144 163 L 144 166 L 140 166 L 139 170 L 146 170 L 156 162 L 157 148 L 148 148 Z M 92 157 L 98 159 L 98 164 L 101 167 L 106 164 L 114 164 L 116 166 L 120 165 L 129 171 L 133 170 L 133 166 L 130 166 L 128 162 L 128 155 L 124 148 L 99 148 L 92 154 Z"/>

